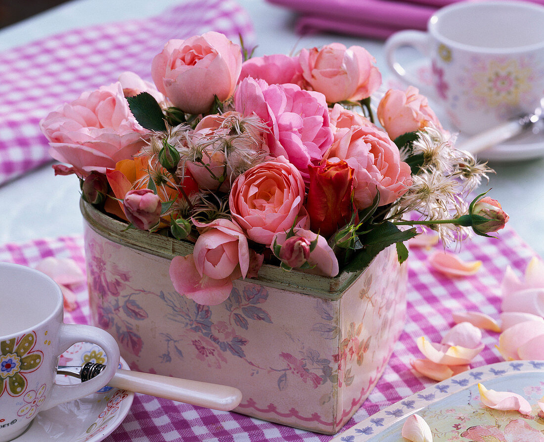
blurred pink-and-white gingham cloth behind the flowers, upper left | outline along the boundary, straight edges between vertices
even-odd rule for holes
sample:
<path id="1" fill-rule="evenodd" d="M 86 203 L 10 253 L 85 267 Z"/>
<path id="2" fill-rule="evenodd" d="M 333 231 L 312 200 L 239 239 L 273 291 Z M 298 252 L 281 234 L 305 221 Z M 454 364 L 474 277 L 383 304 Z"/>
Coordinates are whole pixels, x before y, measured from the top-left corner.
<path id="1" fill-rule="evenodd" d="M 51 161 L 39 121 L 83 91 L 114 83 L 123 71 L 151 79 L 166 41 L 208 30 L 253 40 L 234 0 L 190 0 L 156 17 L 71 30 L 0 54 L 0 185 Z"/>

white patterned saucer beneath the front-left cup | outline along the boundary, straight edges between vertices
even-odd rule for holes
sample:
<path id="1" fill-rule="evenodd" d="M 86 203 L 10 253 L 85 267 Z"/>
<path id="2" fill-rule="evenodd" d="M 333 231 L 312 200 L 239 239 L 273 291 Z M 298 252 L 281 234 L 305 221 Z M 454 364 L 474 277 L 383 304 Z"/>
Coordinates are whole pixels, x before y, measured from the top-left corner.
<path id="1" fill-rule="evenodd" d="M 84 362 L 105 363 L 100 347 L 81 343 L 69 348 L 60 357 L 59 365 L 81 365 Z M 120 368 L 128 370 L 121 359 Z M 79 379 L 57 376 L 59 384 L 78 383 Z M 26 432 L 15 442 L 100 442 L 117 428 L 131 407 L 134 393 L 104 387 L 95 394 L 60 404 L 41 412 Z"/>

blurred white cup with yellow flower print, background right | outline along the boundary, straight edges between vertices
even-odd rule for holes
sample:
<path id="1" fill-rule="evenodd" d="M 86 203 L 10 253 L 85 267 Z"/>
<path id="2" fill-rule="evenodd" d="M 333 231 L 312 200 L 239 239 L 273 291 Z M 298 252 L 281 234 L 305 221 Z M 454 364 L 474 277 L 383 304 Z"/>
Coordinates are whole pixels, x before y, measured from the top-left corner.
<path id="1" fill-rule="evenodd" d="M 398 49 L 406 46 L 430 59 L 432 86 L 410 72 L 410 62 L 398 62 Z M 442 105 L 461 134 L 476 134 L 539 106 L 544 7 L 510 0 L 454 3 L 430 18 L 427 32 L 393 34 L 385 55 L 392 72 Z"/>

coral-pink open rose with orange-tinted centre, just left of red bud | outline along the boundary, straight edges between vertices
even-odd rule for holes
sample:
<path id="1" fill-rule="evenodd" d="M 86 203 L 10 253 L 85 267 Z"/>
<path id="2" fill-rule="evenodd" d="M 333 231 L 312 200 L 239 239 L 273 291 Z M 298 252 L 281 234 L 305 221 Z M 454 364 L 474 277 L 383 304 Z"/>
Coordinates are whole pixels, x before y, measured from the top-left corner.
<path id="1" fill-rule="evenodd" d="M 270 245 L 274 235 L 293 225 L 307 227 L 304 180 L 285 158 L 265 161 L 239 175 L 228 204 L 233 220 L 248 238 Z"/>

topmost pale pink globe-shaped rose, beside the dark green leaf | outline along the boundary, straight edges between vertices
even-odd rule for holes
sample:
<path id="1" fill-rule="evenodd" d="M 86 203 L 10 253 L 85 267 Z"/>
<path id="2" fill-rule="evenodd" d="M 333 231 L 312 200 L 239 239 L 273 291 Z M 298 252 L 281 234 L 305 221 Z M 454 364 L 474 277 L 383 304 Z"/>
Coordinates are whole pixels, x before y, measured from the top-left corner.
<path id="1" fill-rule="evenodd" d="M 166 43 L 153 58 L 151 76 L 175 106 L 189 114 L 201 114 L 212 107 L 214 95 L 219 101 L 232 95 L 241 69 L 240 46 L 210 31 Z"/>

